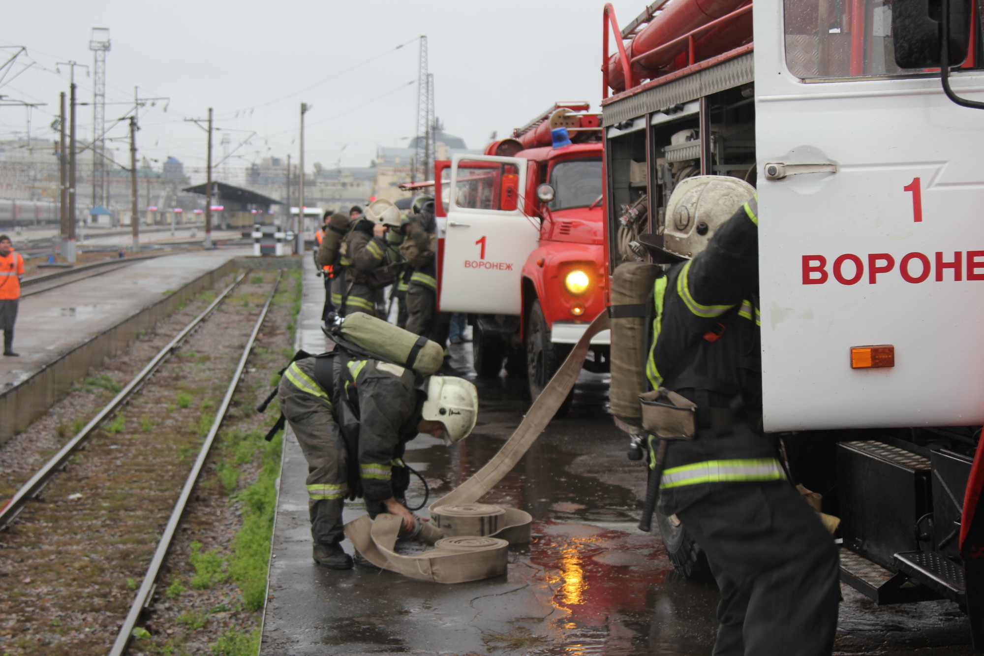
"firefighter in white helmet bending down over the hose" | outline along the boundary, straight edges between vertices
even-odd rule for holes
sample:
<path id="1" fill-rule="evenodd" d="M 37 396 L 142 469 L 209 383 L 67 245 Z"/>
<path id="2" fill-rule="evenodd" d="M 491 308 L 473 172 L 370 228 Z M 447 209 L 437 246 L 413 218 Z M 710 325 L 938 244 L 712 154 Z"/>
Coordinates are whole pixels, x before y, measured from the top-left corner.
<path id="1" fill-rule="evenodd" d="M 406 442 L 421 432 L 459 441 L 478 415 L 478 393 L 466 380 L 421 380 L 412 369 L 338 351 L 291 362 L 277 396 L 308 463 L 314 559 L 333 569 L 352 566 L 339 544 L 344 499 L 363 496 L 370 517 L 400 515 L 410 534 L 417 520 L 403 500 Z"/>

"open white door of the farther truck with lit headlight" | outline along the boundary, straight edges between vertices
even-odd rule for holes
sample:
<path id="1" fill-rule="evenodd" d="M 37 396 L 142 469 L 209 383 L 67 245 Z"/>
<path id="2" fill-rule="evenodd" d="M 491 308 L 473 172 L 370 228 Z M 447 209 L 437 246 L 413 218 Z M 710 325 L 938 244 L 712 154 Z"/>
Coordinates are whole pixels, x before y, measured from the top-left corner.
<path id="1" fill-rule="evenodd" d="M 456 155 L 444 242 L 441 310 L 520 314 L 523 263 L 539 229 L 523 214 L 526 161 Z"/>

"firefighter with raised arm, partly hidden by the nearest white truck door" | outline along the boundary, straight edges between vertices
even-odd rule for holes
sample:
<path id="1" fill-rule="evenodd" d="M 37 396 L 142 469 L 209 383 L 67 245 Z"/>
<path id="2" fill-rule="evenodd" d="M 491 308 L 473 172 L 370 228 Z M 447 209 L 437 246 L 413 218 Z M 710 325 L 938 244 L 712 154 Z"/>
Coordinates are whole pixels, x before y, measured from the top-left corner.
<path id="1" fill-rule="evenodd" d="M 696 438 L 666 449 L 659 510 L 707 553 L 721 591 L 714 656 L 830 654 L 836 549 L 761 428 L 758 196 L 715 225 L 702 195 L 740 182 L 723 180 L 681 184 L 665 216 L 666 232 L 682 233 L 652 248 L 657 261 L 676 263 L 655 281 L 646 377 L 697 404 Z M 650 437 L 650 463 L 656 442 Z"/>

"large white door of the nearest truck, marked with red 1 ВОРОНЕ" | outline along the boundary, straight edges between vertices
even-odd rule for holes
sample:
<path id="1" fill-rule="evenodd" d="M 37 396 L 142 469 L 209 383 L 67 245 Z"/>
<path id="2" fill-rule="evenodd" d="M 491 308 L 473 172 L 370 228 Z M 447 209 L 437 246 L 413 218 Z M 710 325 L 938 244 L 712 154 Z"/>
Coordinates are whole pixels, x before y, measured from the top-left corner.
<path id="1" fill-rule="evenodd" d="M 755 11 L 765 427 L 980 425 L 984 112 L 898 68 L 889 0 L 836 7 Z"/>

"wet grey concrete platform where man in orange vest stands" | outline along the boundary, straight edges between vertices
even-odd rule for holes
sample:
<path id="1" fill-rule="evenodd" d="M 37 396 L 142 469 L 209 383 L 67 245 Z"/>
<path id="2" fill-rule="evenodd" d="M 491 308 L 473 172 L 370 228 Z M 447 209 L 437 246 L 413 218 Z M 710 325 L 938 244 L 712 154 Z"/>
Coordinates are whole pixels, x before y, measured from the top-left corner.
<path id="1" fill-rule="evenodd" d="M 227 248 L 164 255 L 22 298 L 14 331 L 14 350 L 21 357 L 0 358 L 0 390 L 25 380 L 165 293 L 251 253 L 248 248 Z"/>

